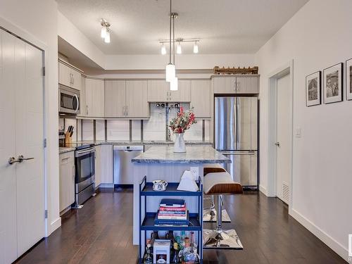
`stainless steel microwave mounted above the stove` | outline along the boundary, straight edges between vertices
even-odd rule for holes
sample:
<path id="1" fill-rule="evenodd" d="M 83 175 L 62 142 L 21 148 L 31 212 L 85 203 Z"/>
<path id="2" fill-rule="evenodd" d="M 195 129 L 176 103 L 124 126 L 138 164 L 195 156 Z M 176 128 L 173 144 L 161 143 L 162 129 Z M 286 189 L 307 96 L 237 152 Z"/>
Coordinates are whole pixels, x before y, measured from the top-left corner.
<path id="1" fill-rule="evenodd" d="M 79 115 L 80 91 L 59 84 L 58 93 L 58 113 L 66 115 Z"/>

